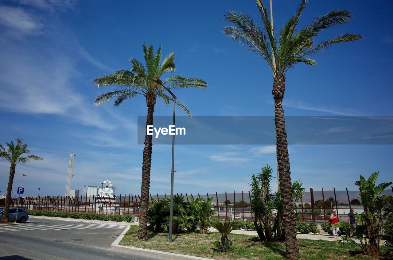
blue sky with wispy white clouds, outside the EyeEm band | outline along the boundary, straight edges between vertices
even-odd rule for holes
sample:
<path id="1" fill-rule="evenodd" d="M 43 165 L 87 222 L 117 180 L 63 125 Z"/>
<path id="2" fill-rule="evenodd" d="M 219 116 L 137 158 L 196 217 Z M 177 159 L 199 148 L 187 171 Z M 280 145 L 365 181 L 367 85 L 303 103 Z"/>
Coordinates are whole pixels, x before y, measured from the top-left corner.
<path id="1" fill-rule="evenodd" d="M 280 28 L 299 1 L 273 0 Z M 302 24 L 318 13 L 350 9 L 354 20 L 325 31 L 321 39 L 353 31 L 364 40 L 327 49 L 319 65 L 299 65 L 286 74 L 285 115 L 393 115 L 390 87 L 393 5 L 369 1 L 309 1 Z M 272 72 L 221 29 L 226 11 L 258 19 L 254 1 L 60 1 L 6 0 L 0 4 L 0 143 L 22 138 L 43 161 L 18 165 L 14 187 L 26 174 L 27 196 L 64 195 L 69 154 L 72 189 L 110 179 L 117 194 L 140 193 L 143 145 L 137 144 L 137 116 L 143 97 L 115 108 L 94 107 L 100 93 L 90 81 L 129 69 L 142 60 L 143 42 L 164 55 L 176 52 L 176 73 L 199 77 L 208 90 L 176 92 L 193 115 L 273 115 Z M 158 101 L 155 115 L 171 115 Z M 177 110 L 178 115 L 185 115 Z M 273 122 L 272 122 L 273 123 Z M 359 174 L 380 170 L 392 180 L 391 145 L 292 145 L 292 179 L 309 189 L 356 190 Z M 275 167 L 275 147 L 178 145 L 174 190 L 182 193 L 241 192 L 261 166 Z M 171 146 L 155 145 L 151 193 L 169 193 Z M 9 164 L 0 161 L 0 193 Z M 272 187 L 275 189 L 276 181 Z"/>

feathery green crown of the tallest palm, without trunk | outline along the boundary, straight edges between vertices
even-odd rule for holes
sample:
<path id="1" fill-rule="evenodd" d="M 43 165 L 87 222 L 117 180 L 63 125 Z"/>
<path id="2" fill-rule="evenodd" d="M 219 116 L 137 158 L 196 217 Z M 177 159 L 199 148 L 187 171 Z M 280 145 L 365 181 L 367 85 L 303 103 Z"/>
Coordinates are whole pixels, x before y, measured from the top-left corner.
<path id="1" fill-rule="evenodd" d="M 238 40 L 248 49 L 261 55 L 272 68 L 274 75 L 285 75 L 285 72 L 297 63 L 316 65 L 312 58 L 323 49 L 340 42 L 353 42 L 364 38 L 356 33 L 345 33 L 315 43 L 315 38 L 322 30 L 341 24 L 349 24 L 353 15 L 348 10 L 334 10 L 322 16 L 316 16 L 309 25 L 297 29 L 299 18 L 307 2 L 302 0 L 296 14 L 281 28 L 278 36 L 274 35 L 266 6 L 257 0 L 262 25 L 255 23 L 250 15 L 228 11 L 225 20 L 233 26 L 226 26 L 223 32 L 233 40 Z M 274 58 L 273 58 L 274 57 Z"/>

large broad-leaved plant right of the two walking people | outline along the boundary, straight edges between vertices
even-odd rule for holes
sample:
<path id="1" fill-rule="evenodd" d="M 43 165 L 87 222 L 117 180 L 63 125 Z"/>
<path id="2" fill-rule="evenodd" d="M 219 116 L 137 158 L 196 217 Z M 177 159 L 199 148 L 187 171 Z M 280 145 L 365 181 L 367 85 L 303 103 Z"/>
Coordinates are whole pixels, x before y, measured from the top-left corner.
<path id="1" fill-rule="evenodd" d="M 378 174 L 379 171 L 374 172 L 367 180 L 360 175 L 360 180 L 355 182 L 355 185 L 359 186 L 364 212 L 362 214 L 356 213 L 357 222 L 353 236 L 342 236 L 342 241 L 350 241 L 354 244 L 356 242 L 352 238 L 358 239 L 360 241 L 358 245 L 362 248 L 363 253 L 368 256 L 379 255 L 379 244 L 381 240 L 380 228 L 384 222 L 384 218 L 389 216 L 389 211 L 386 211 L 387 202 L 390 200 L 389 196 L 381 196 L 381 193 L 392 182 L 384 182 L 376 185 L 375 182 Z M 348 228 L 349 226 L 346 222 L 339 222 L 334 224 L 333 227 Z"/>

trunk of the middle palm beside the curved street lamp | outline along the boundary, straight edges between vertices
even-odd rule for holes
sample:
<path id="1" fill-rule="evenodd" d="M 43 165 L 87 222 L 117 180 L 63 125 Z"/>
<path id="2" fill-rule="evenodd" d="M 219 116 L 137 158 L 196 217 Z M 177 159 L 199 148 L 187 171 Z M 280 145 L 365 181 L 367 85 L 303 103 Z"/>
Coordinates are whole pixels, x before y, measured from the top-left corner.
<path id="1" fill-rule="evenodd" d="M 146 96 L 147 104 L 147 118 L 146 129 L 148 125 L 153 125 L 154 105 L 156 104 L 155 96 Z M 147 209 L 149 207 L 149 192 L 150 192 L 150 168 L 151 168 L 151 151 L 152 151 L 152 135 L 145 134 L 145 148 L 143 149 L 142 162 L 142 185 L 141 185 L 141 201 L 140 201 L 140 216 L 138 238 L 147 240 Z"/>

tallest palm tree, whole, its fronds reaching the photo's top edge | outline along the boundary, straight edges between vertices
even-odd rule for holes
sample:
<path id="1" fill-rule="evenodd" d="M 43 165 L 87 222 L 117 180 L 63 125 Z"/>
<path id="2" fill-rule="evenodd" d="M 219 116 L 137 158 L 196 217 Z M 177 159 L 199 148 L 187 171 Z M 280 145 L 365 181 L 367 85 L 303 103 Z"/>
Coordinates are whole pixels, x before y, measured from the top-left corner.
<path id="1" fill-rule="evenodd" d="M 362 39 L 362 35 L 345 33 L 315 43 L 315 38 L 323 29 L 340 24 L 348 24 L 353 18 L 348 10 L 334 10 L 322 16 L 316 16 L 309 25 L 301 29 L 299 24 L 301 13 L 306 7 L 303 0 L 296 14 L 281 28 L 278 36 L 273 33 L 272 24 L 266 6 L 257 0 L 262 24 L 255 23 L 249 15 L 228 11 L 225 20 L 234 26 L 226 26 L 223 32 L 233 40 L 244 44 L 248 49 L 261 55 L 273 70 L 274 123 L 276 129 L 277 161 L 280 173 L 280 190 L 282 194 L 286 240 L 286 254 L 290 259 L 299 257 L 296 242 L 296 228 L 292 205 L 292 189 L 289 170 L 288 143 L 286 141 L 283 98 L 285 93 L 285 73 L 298 63 L 316 65 L 312 58 L 336 43 L 352 42 Z"/>

